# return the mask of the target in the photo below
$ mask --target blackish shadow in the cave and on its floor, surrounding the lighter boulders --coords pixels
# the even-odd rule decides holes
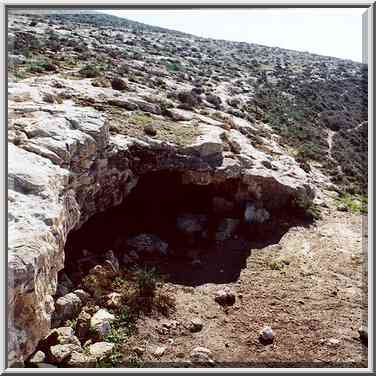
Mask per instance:
[[[65,246],[65,270],[74,270],[82,249],[96,255],[115,250],[121,260],[122,249],[114,249],[121,236],[151,233],[169,244],[167,256],[143,257],[142,267],[156,267],[167,281],[184,286],[206,283],[236,282],[247,266],[251,250],[277,244],[292,226],[308,226],[311,222],[289,210],[271,213],[263,225],[241,224],[236,236],[217,242],[199,240],[189,245],[176,230],[176,218],[184,213],[206,214],[213,229],[223,217],[212,212],[214,195],[231,199],[236,181],[225,185],[182,184],[178,173],[155,172],[144,175],[125,201],[103,213],[94,215],[79,230],[71,231]],[[234,209],[230,217],[242,218],[244,208]],[[196,259],[196,262],[192,262]],[[199,260],[199,262],[197,262]]]

